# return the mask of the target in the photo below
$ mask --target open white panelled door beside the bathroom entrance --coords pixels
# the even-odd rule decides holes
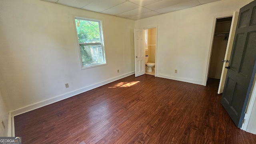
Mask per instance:
[[[145,32],[134,29],[135,77],[145,74]]]

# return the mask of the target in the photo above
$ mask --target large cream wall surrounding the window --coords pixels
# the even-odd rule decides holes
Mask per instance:
[[[103,20],[107,65],[80,69],[74,16]],[[8,111],[133,74],[134,26],[40,0],[0,0],[0,91]]]

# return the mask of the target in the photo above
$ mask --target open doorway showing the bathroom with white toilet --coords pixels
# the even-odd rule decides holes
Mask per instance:
[[[156,28],[145,30],[145,74],[156,74]]]

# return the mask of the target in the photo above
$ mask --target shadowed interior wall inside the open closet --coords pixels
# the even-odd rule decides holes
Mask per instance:
[[[231,26],[231,21],[228,22],[218,22],[216,23],[215,34],[221,32],[229,32]],[[209,70],[209,78],[220,79],[222,66],[226,53],[226,48],[228,41],[224,40],[225,35],[222,36],[214,36],[213,46],[212,46],[212,55],[210,61],[210,70]]]

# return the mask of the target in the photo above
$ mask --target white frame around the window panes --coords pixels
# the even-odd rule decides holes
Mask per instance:
[[[76,30],[76,21],[75,20],[86,20],[86,21],[98,22],[100,42],[79,43],[78,34],[77,34],[77,30]],[[106,49],[105,49],[105,45],[104,45],[103,20],[97,19],[97,18],[85,18],[85,17],[80,17],[80,16],[73,16],[73,22],[74,22],[74,28],[75,28],[76,41],[77,41],[77,47],[78,47],[78,53],[79,53],[78,55],[79,55],[79,59],[80,59],[79,62],[80,62],[81,70],[107,65]],[[83,65],[80,46],[84,46],[84,45],[85,46],[86,45],[87,46],[89,46],[89,45],[93,46],[93,45],[95,45],[97,47],[97,45],[99,45],[99,44],[101,45],[101,55],[102,55],[102,59],[104,60],[104,62],[100,62],[100,63],[96,63],[96,64]]]

